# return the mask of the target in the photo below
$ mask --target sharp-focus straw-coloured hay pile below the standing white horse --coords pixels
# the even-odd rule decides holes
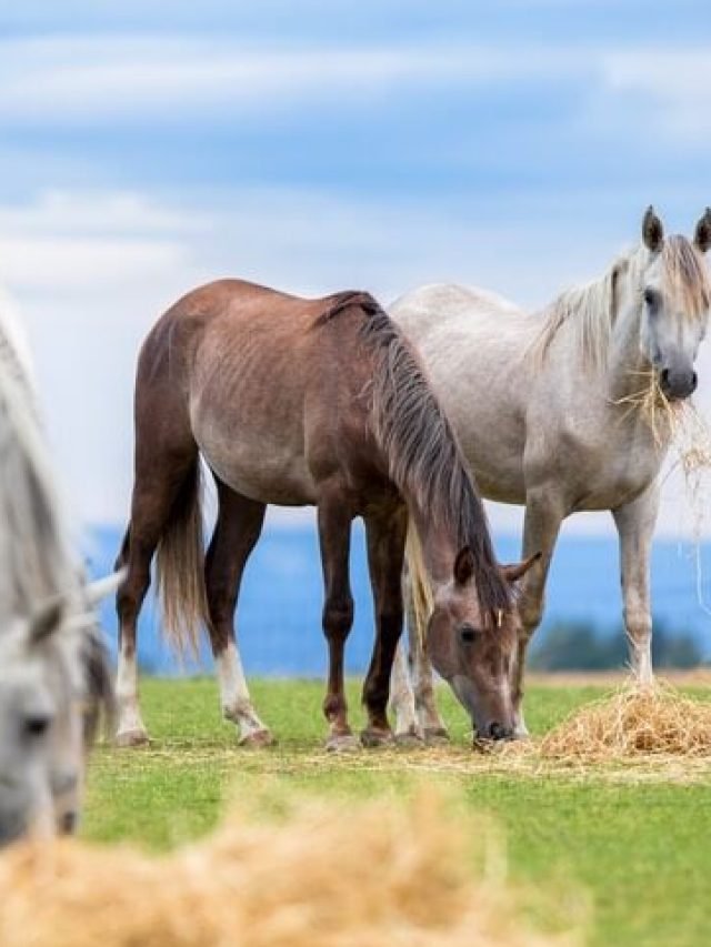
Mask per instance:
[[[711,703],[669,684],[627,684],[575,711],[543,737],[540,752],[558,759],[711,756]]]

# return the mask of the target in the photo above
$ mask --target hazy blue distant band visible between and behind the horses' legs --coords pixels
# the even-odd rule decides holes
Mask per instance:
[[[347,669],[361,674],[372,646],[372,603],[365,566],[363,531],[356,524],[351,553],[351,581],[356,621],[348,639]],[[111,570],[121,532],[112,527],[91,531],[89,556],[92,575]],[[502,562],[519,557],[519,540],[495,537]],[[659,541],[652,556],[654,616],[674,632],[691,632],[702,653],[711,656],[711,617],[699,604],[695,551]],[[711,544],[701,556],[703,597],[711,601]],[[557,621],[588,621],[601,631],[620,624],[619,557],[613,538],[563,536],[557,547],[548,588],[542,638]],[[249,675],[321,676],[326,645],[321,633],[321,564],[316,530],[311,526],[268,524],[242,582],[237,627]],[[116,652],[113,603],[102,606],[107,639]],[[209,647],[199,664],[177,662],[161,641],[157,611],[149,593],[139,626],[139,659],[156,674],[192,673],[212,666]]]

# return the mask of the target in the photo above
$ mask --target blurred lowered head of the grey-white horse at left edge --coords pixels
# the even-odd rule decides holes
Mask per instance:
[[[91,615],[52,598],[0,635],[0,845],[72,832],[84,756],[110,678]]]

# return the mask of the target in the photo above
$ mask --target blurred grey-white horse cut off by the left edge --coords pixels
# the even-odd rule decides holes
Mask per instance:
[[[73,829],[111,701],[92,604],[54,491],[27,349],[0,311],[0,845]]]

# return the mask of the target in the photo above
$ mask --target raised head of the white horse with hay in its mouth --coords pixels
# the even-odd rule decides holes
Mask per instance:
[[[707,330],[711,288],[703,254],[711,245],[711,210],[697,224],[693,241],[664,236],[652,208],[644,214],[642,242],[648,251],[631,288],[642,306],[642,355],[658,374],[671,401],[689,397],[697,387],[694,362]]]

